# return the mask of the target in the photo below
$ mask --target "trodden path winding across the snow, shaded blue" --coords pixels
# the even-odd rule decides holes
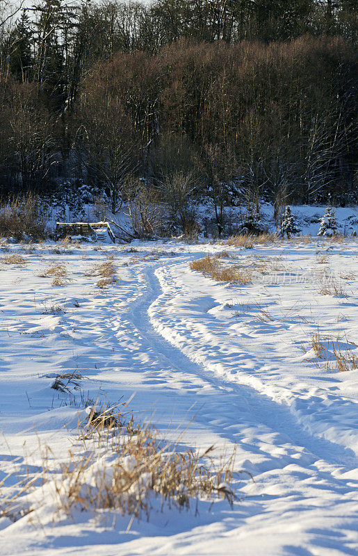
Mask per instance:
[[[174,265],[175,263],[172,263]],[[213,371],[187,357],[178,347],[167,341],[161,332],[157,332],[149,318],[149,308],[158,297],[162,295],[159,281],[155,275],[157,267],[145,268],[145,283],[147,289],[143,295],[140,295],[132,302],[127,318],[131,324],[136,327],[147,348],[153,350],[157,356],[163,359],[165,366],[172,368],[173,373],[187,373],[188,375],[199,377],[202,381],[218,391],[218,397],[225,398],[223,402],[215,404],[214,415],[220,420],[221,436],[226,436],[231,441],[238,440],[235,433],[230,433],[235,423],[245,423],[251,427],[265,427],[266,432],[279,434],[281,440],[279,444],[286,444],[300,447],[307,455],[307,452],[314,456],[313,461],[323,459],[328,464],[344,466],[346,469],[354,469],[357,465],[354,452],[345,448],[343,445],[333,443],[323,439],[320,436],[314,436],[304,430],[300,423],[295,420],[290,409],[282,404],[278,404],[274,400],[268,398],[265,394],[255,390],[250,386],[237,384],[225,380],[215,375]],[[196,393],[197,401],[200,401],[200,391]],[[237,409],[240,408],[240,409]],[[204,408],[205,409],[205,408]],[[212,409],[212,408],[211,408]],[[236,411],[237,409],[237,411]],[[244,409],[245,414],[242,414]],[[219,412],[222,414],[219,414]],[[204,423],[208,422],[208,418],[213,414],[204,414]],[[237,416],[237,417],[236,417]],[[200,416],[195,420],[200,420]],[[229,427],[229,428],[228,428]],[[277,442],[279,439],[275,439]],[[301,452],[302,453],[302,452]],[[298,460],[296,459],[296,463]],[[307,465],[307,463],[306,463]]]

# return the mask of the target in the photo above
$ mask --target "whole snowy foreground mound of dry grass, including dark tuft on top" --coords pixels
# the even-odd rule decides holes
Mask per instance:
[[[74,510],[129,514],[129,530],[134,518],[148,519],[154,505],[188,509],[198,499],[225,498],[230,505],[236,500],[236,477],[243,472],[234,471],[235,451],[214,458],[213,446],[203,452],[181,448],[179,440],[165,440],[153,425],[135,424],[113,408],[86,411],[65,462],[51,466],[47,457],[37,475],[22,480],[20,496],[3,495],[0,515],[15,521],[45,500],[57,507],[58,516],[74,516]],[[31,498],[36,489],[38,496]]]

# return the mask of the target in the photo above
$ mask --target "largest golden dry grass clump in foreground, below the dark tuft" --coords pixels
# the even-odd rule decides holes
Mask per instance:
[[[113,509],[133,519],[141,514],[149,518],[151,498],[160,498],[161,506],[187,509],[197,498],[226,498],[231,504],[236,498],[234,455],[215,465],[209,459],[213,446],[202,454],[179,451],[175,443],[161,441],[154,427],[142,426],[134,432],[124,427],[121,437],[116,431],[109,450],[110,465],[105,459],[98,465],[95,450],[62,466],[57,485],[60,510],[71,514],[74,507],[90,512]]]

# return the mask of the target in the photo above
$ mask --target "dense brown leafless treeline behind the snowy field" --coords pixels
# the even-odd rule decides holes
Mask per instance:
[[[0,26],[3,193],[354,202],[355,3],[46,0]],[[1,22],[1,20],[0,20]],[[302,35],[304,33],[304,35]],[[338,36],[339,35],[339,36]]]

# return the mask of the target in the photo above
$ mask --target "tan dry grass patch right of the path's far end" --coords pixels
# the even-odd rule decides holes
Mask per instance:
[[[223,267],[217,257],[206,255],[203,259],[190,262],[191,270],[202,272],[218,282],[229,282],[245,286],[252,281],[252,270],[241,269],[237,266]]]

